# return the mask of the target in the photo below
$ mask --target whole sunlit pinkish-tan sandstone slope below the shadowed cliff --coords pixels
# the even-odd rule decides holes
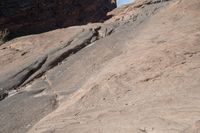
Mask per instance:
[[[200,1],[109,15],[0,46],[0,132],[200,132]]]

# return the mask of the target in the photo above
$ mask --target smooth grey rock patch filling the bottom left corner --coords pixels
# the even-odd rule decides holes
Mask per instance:
[[[21,92],[0,102],[1,132],[25,133],[36,121],[56,109],[55,95],[35,95],[36,92]]]

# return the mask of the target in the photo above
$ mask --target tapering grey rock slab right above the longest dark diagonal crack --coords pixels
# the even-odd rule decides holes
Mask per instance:
[[[41,69],[38,70],[37,72],[35,72],[33,75],[31,75],[23,83],[22,86],[26,85],[27,83],[33,81],[36,78],[41,77],[48,70],[50,70],[50,69],[58,66],[60,63],[62,63],[66,58],[70,57],[73,54],[76,54],[81,49],[90,45],[92,43],[91,40],[93,39],[93,37],[97,37],[97,36],[98,36],[98,31],[94,30],[94,29],[89,29],[88,31],[85,31],[82,34],[78,35],[75,39],[70,41],[68,46],[48,55],[47,60],[46,60],[45,64],[41,67]],[[98,39],[96,38],[96,40],[98,40]],[[96,40],[93,40],[93,42]]]

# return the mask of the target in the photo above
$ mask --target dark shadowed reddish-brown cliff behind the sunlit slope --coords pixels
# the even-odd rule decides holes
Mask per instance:
[[[1,0],[0,39],[103,21],[115,7],[115,0]]]

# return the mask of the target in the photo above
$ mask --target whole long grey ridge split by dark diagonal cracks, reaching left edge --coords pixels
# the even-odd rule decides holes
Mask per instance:
[[[36,62],[30,64],[20,72],[6,78],[3,82],[0,82],[0,88],[4,90],[2,92],[5,93],[9,90],[23,87],[31,81],[40,78],[44,73],[58,66],[66,58],[76,54],[91,43],[103,38],[99,33],[100,29],[101,27],[97,27],[96,29],[87,29],[83,31],[74,39],[69,41],[62,49],[60,48],[55,52],[44,55],[42,58],[37,59]],[[4,93],[2,95],[4,95]]]

